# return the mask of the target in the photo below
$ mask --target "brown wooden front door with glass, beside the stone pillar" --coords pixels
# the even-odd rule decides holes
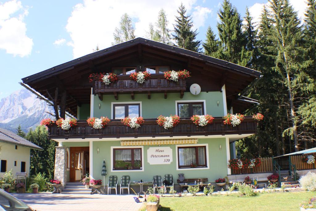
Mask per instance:
[[[78,182],[89,173],[89,147],[70,147],[70,182]]]

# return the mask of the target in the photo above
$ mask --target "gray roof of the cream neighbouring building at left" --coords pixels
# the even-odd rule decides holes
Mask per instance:
[[[39,147],[36,144],[33,144],[32,142],[26,139],[23,139],[21,136],[18,136],[17,134],[2,128],[0,128],[0,142],[25,146],[32,149],[43,150],[42,147]]]

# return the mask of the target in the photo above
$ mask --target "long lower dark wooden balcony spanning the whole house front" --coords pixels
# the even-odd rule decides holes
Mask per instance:
[[[190,119],[180,119],[180,123],[171,129],[157,125],[156,119],[145,119],[144,124],[135,129],[123,125],[119,120],[111,120],[103,129],[94,129],[83,120],[78,121],[78,125],[69,130],[61,129],[55,123],[48,126],[51,139],[190,137],[252,133],[257,133],[257,121],[251,116],[246,116],[236,127],[224,125],[221,117],[215,118],[212,124],[205,127],[196,126]]]

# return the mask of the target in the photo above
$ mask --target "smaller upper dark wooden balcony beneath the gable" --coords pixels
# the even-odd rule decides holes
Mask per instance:
[[[185,90],[185,79],[173,82],[164,78],[163,74],[152,74],[143,84],[131,80],[129,75],[118,75],[118,80],[109,85],[99,80],[94,81],[94,93],[100,100],[103,100],[103,94],[113,94],[116,100],[118,100],[118,94],[131,94],[131,98],[134,99],[134,93],[147,93],[148,99],[150,99],[150,93],[164,93],[164,97],[167,98],[168,92],[179,92],[182,98]]]

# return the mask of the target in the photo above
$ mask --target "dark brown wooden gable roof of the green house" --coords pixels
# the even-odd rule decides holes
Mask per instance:
[[[45,97],[49,96],[47,93],[53,96],[55,87],[66,90],[67,111],[76,115],[77,105],[90,101],[90,73],[106,72],[122,61],[137,59],[141,62],[148,58],[191,71],[195,76],[191,78],[192,83],[206,84],[202,91],[220,90],[225,84],[226,96],[232,102],[261,75],[258,71],[201,53],[136,38],[22,78],[22,81]],[[190,85],[190,80],[187,84]]]

